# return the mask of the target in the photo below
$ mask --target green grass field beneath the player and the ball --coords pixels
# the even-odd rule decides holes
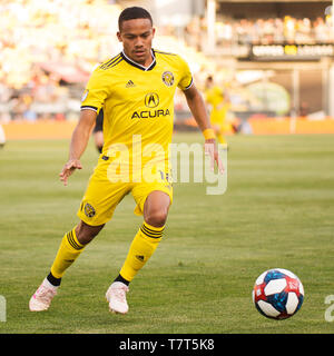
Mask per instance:
[[[177,134],[176,142],[202,141]],[[48,274],[97,161],[90,142],[84,169],[58,179],[68,141],[10,141],[0,150],[0,333],[328,334],[334,295],[334,136],[229,138],[228,188],[176,184],[164,240],[130,285],[130,312],[108,312],[105,293],[119,271],[141,218],[127,196],[114,219],[62,280],[51,308],[28,301]],[[302,309],[286,320],[252,303],[257,276],[273,267],[303,281]],[[333,313],[334,316],[334,313]]]

